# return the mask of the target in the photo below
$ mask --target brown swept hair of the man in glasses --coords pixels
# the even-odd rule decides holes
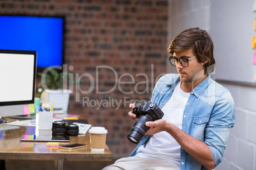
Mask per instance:
[[[207,62],[204,64],[204,72],[211,74],[215,67],[214,46],[211,37],[205,30],[198,27],[183,30],[173,39],[168,50],[173,55],[173,53],[180,53],[191,48],[199,63]]]

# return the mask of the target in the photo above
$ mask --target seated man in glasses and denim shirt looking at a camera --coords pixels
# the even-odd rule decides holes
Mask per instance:
[[[221,162],[234,126],[234,101],[209,75],[213,42],[205,30],[187,29],[168,49],[178,74],[162,76],[152,93],[164,117],[146,122],[151,128],[131,157],[105,169],[213,169]]]

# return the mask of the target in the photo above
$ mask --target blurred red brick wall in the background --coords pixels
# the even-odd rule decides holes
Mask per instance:
[[[84,107],[92,124],[108,129],[113,157],[128,156],[135,147],[126,137],[133,124],[129,101],[150,100],[157,76],[166,72],[167,0],[2,0],[0,9],[66,16],[68,71],[87,74],[80,88],[91,89],[73,88],[78,93],[69,108]]]

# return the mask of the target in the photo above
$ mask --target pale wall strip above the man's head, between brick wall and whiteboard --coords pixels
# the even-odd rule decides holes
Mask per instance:
[[[168,46],[185,29],[199,27],[211,31],[211,0],[169,0],[168,5]],[[167,71],[176,73],[175,67],[167,63]]]

